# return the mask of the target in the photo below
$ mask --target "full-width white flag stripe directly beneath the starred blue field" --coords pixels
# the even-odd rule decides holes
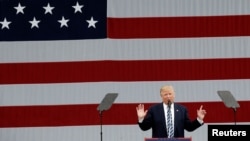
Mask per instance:
[[[249,37],[0,42],[1,63],[244,58]]]

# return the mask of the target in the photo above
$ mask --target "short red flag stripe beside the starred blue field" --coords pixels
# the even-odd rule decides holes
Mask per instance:
[[[108,18],[109,38],[249,36],[250,15]]]

